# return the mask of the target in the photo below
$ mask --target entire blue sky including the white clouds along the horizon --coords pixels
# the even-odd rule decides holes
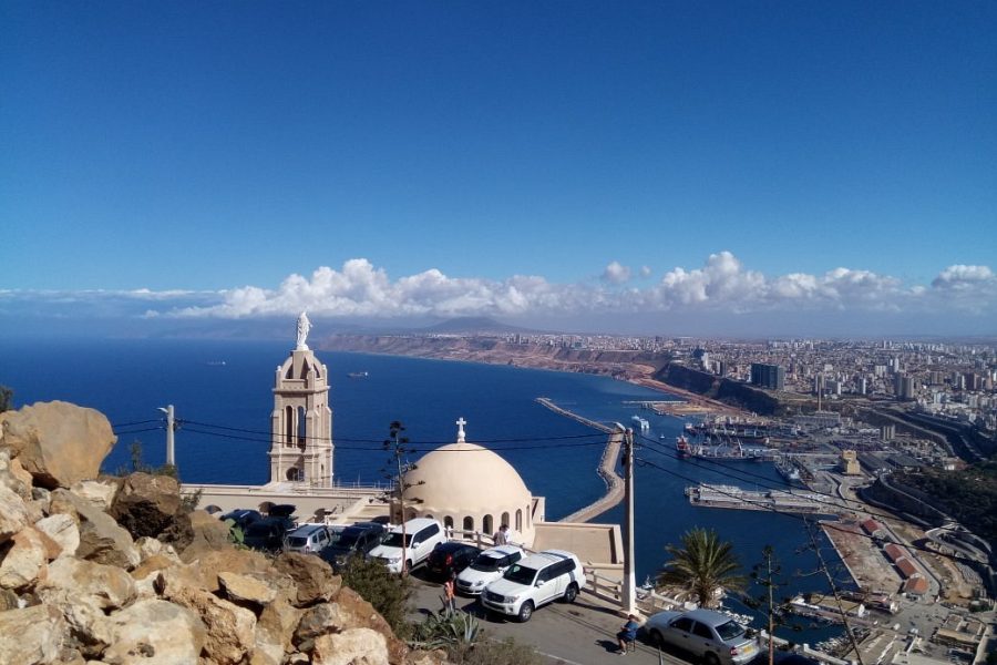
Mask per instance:
[[[0,225],[0,327],[993,334],[997,4],[4,2]]]

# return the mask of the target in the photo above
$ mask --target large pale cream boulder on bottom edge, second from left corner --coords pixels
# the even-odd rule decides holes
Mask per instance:
[[[160,600],[137,601],[109,617],[111,646],[101,659],[109,665],[197,663],[206,631],[197,615]]]

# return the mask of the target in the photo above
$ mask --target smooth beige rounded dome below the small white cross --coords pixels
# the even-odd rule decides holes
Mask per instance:
[[[460,441],[429,452],[405,474],[405,500],[420,514],[482,514],[526,508],[530,490],[512,464],[486,448]]]

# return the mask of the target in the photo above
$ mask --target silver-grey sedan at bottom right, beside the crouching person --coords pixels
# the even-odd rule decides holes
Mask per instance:
[[[706,665],[740,665],[758,655],[758,643],[748,638],[747,628],[713,610],[658,612],[644,630],[651,643],[677,646]]]

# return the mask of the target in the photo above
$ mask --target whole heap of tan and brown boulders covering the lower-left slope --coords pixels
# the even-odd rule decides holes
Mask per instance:
[[[38,413],[13,420],[31,419]],[[24,472],[38,466],[20,456],[50,460],[49,441],[72,456],[68,442],[88,444],[91,424],[47,421],[32,430],[44,433],[33,450],[23,434],[17,447],[0,442],[0,663],[444,663],[410,654],[317,556],[271,560],[233,546],[217,519],[183,511],[173,479]],[[52,491],[33,484],[53,478]],[[171,539],[177,533],[186,538]]]

